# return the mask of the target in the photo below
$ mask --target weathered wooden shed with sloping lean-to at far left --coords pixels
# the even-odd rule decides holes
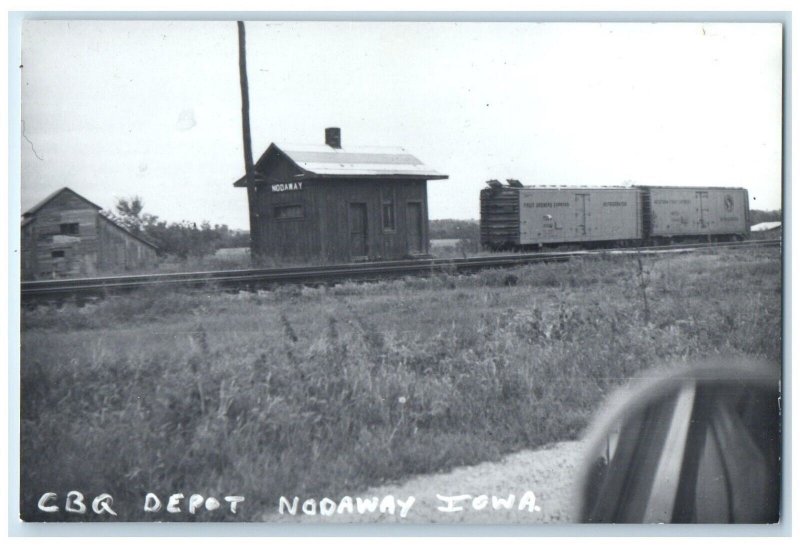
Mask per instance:
[[[64,187],[26,211],[22,278],[95,276],[154,267],[157,247],[105,217],[101,209]]]

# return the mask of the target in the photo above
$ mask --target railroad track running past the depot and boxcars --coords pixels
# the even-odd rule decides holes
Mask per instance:
[[[370,281],[391,277],[430,275],[437,272],[468,273],[485,268],[502,268],[538,262],[568,261],[573,257],[593,255],[626,255],[682,253],[713,248],[780,247],[781,240],[748,240],[745,242],[683,244],[639,248],[514,253],[464,259],[417,259],[370,263],[349,263],[328,266],[219,270],[175,274],[107,276],[65,280],[22,282],[24,304],[41,301],[85,299],[146,287],[213,287],[220,290],[273,287],[281,284],[322,284],[345,280]]]

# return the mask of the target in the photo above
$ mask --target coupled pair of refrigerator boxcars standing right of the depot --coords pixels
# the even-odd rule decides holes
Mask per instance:
[[[486,249],[740,239],[747,190],[718,187],[553,187],[497,181],[481,191]]]

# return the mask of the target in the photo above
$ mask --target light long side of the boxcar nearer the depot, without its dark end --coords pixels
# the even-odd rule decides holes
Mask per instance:
[[[638,240],[640,196],[638,188],[521,188],[519,244]]]

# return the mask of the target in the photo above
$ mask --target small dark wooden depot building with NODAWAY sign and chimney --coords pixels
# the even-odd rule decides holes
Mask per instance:
[[[403,148],[273,143],[247,188],[252,256],[284,263],[401,259],[428,253],[427,181],[446,179]]]

